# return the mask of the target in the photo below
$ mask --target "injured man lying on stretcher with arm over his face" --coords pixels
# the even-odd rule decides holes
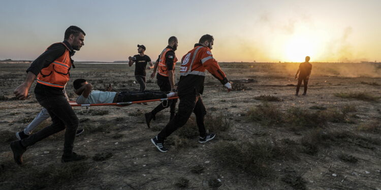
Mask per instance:
[[[79,95],[77,98],[78,104],[96,104],[96,103],[117,103],[131,102],[141,100],[152,100],[174,97],[175,92],[110,92],[111,87],[107,91],[92,90],[92,86],[85,79],[77,79],[73,82],[74,92]]]

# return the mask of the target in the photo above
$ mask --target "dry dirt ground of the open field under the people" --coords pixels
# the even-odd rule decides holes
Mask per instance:
[[[227,120],[229,129],[214,130],[216,138],[198,143],[197,136],[183,137],[174,133],[169,151],[160,153],[150,142],[169,120],[169,110],[157,115],[148,129],[144,113],[158,102],[127,107],[91,107],[87,115],[81,108],[74,110],[85,132],[75,140],[74,151],[88,159],[77,163],[60,163],[63,132],[29,147],[24,165],[13,162],[9,143],[21,131],[41,106],[31,87],[30,98],[14,100],[13,90],[25,78],[29,64],[1,64],[0,72],[0,189],[381,189],[381,136],[379,129],[381,106],[378,101],[342,98],[336,93],[366,93],[375,97],[381,92],[380,66],[376,64],[312,63],[313,69],[306,96],[295,96],[294,79],[297,63],[221,63],[221,68],[233,81],[235,91],[227,93],[210,74],[202,96],[207,115]],[[178,70],[177,70],[178,71]],[[150,73],[147,70],[147,73]],[[178,75],[178,74],[177,74]],[[76,64],[71,71],[67,92],[75,100],[72,82],[85,78],[94,89],[103,90],[112,84],[114,90],[139,89],[134,67],[123,64]],[[147,89],[156,90],[156,80],[147,81]],[[303,87],[301,87],[301,92]],[[301,94],[301,93],[300,93]],[[314,107],[342,109],[351,106],[351,122],[328,122],[319,128],[322,134],[350,132],[349,141],[326,141],[315,154],[298,149],[298,159],[275,159],[267,162],[272,175],[258,177],[257,171],[246,172],[221,163],[216,149],[224,143],[292,142],[302,146],[316,128],[295,130],[283,125],[263,125],[247,117],[248,111],[262,100],[255,97],[271,95],[280,101],[270,102],[281,112],[291,107],[314,111]],[[372,130],[361,126],[376,122]],[[50,119],[39,128],[48,126]],[[193,125],[193,126],[192,126]],[[194,118],[184,128],[194,127]],[[209,122],[208,125],[213,125]],[[207,129],[218,126],[206,126]],[[36,130],[37,131],[37,130]],[[337,139],[339,139],[339,136]],[[289,143],[290,144],[290,143]],[[228,148],[229,149],[229,148]],[[229,150],[228,150],[229,153]],[[232,162],[233,163],[233,162]],[[237,163],[236,163],[237,164]],[[239,164],[239,163],[238,163]]]

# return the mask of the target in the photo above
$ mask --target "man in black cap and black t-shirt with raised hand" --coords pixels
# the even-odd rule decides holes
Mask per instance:
[[[147,66],[147,63],[149,63],[147,69],[151,69],[153,67],[153,64],[151,62],[151,59],[144,55],[145,46],[144,45],[138,45],[138,53],[137,55],[134,55],[134,57],[129,57],[129,66],[132,66],[135,63],[135,79],[140,85],[140,92],[145,91],[145,68]]]

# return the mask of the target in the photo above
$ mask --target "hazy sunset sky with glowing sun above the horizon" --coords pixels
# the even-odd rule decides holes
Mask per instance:
[[[0,6],[0,60],[37,58],[70,25],[77,61],[126,60],[137,44],[156,59],[177,36],[179,59],[203,34],[220,62],[381,61],[380,0],[8,1]]]

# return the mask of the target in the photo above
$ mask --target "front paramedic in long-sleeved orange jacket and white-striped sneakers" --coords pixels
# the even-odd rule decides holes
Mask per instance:
[[[163,145],[164,140],[176,129],[185,125],[192,112],[196,115],[196,122],[199,127],[199,142],[204,143],[215,137],[213,133],[206,133],[204,125],[206,109],[200,96],[204,91],[206,70],[220,81],[228,89],[228,92],[232,89],[232,85],[210,52],[213,41],[213,36],[209,34],[203,35],[199,43],[195,44],[195,48],[181,59],[178,84],[178,96],[180,99],[178,112],[167,126],[156,137],[151,139],[156,148],[163,153],[168,150]]]

